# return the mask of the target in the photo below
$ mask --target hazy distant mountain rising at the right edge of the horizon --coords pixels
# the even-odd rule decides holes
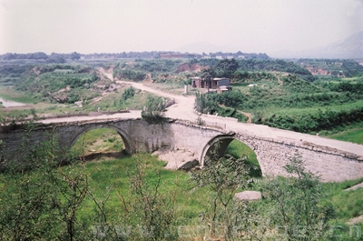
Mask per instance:
[[[281,51],[272,57],[363,59],[363,31],[330,45],[299,52]]]

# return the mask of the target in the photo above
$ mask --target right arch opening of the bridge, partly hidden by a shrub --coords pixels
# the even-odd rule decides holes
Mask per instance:
[[[201,166],[205,166],[205,158],[217,160],[223,156],[231,155],[234,158],[244,158],[246,166],[250,169],[250,176],[260,177],[263,170],[258,156],[250,146],[233,138],[231,135],[216,136],[204,147],[201,156]]]

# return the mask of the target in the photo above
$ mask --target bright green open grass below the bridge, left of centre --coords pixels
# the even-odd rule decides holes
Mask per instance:
[[[183,171],[171,171],[164,169],[165,163],[157,159],[156,156],[142,154],[137,157],[126,156],[122,159],[113,159],[104,161],[102,159],[86,163],[85,166],[74,168],[73,172],[88,174],[89,188],[93,191],[96,198],[102,198],[105,190],[112,187],[111,196],[107,202],[107,216],[109,222],[116,224],[120,222],[119,218],[124,212],[121,196],[127,200],[130,195],[130,180],[128,174],[135,170],[135,162],[143,162],[145,164],[145,179],[148,185],[157,183],[157,173],[160,173],[162,185],[160,190],[162,195],[177,193],[178,216],[184,224],[198,223],[198,215],[205,211],[208,204],[208,192],[198,189],[191,193],[193,184],[189,182],[189,175]],[[68,166],[63,167],[64,171],[69,169]],[[93,214],[93,200],[87,198],[83,205],[80,215],[83,218],[89,218]]]

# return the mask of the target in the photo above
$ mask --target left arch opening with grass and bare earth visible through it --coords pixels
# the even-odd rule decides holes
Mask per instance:
[[[93,127],[74,138],[74,156],[90,161],[99,158],[121,158],[130,153],[127,139],[115,128]]]

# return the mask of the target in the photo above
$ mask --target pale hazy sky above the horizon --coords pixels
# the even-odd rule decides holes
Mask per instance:
[[[269,55],[360,31],[363,0],[0,0],[0,54],[192,52],[199,43]]]

